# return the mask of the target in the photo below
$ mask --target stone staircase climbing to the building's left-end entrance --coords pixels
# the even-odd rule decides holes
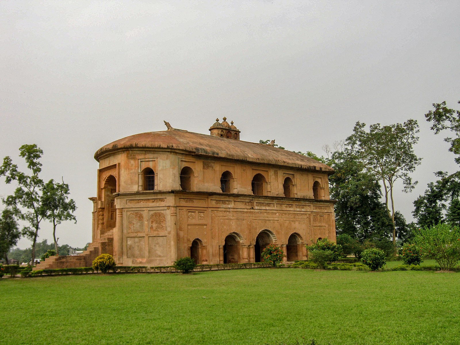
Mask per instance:
[[[89,244],[88,249],[78,255],[50,256],[41,261],[32,270],[46,270],[57,268],[91,267],[92,262],[101,254],[113,255],[113,230],[108,231],[103,237]]]

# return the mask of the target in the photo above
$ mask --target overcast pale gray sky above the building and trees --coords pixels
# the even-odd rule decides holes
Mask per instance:
[[[322,155],[356,121],[413,118],[419,184],[396,199],[411,221],[433,172],[458,168],[424,114],[459,108],[459,14],[459,1],[3,0],[0,158],[44,150],[42,178],[63,176],[78,207],[57,229],[75,247],[91,241],[94,152],[163,120],[209,133],[226,116],[242,140]]]

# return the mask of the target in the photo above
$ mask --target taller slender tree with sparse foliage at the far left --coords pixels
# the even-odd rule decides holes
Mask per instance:
[[[32,241],[31,263],[35,261],[35,243],[37,242],[40,222],[46,217],[47,209],[42,202],[43,180],[39,177],[41,172],[40,158],[43,151],[35,144],[25,144],[19,148],[20,157],[23,157],[30,170],[29,175],[17,170],[11,158],[6,156],[0,167],[0,176],[5,176],[7,184],[15,181],[17,188],[12,195],[3,199],[11,207],[14,214],[25,220],[30,226],[24,226],[22,233]],[[19,207],[22,207],[19,208]]]

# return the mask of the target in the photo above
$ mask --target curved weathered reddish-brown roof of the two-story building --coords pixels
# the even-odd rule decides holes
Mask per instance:
[[[271,145],[214,137],[209,134],[188,132],[180,129],[134,134],[116,140],[96,151],[94,158],[99,161],[101,155],[111,151],[140,148],[177,149],[197,155],[321,170],[329,174],[334,172],[331,167],[313,158]]]

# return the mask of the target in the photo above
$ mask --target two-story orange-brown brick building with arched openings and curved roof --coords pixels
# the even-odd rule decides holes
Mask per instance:
[[[211,135],[165,123],[166,131],[96,152],[92,244],[79,264],[62,259],[48,267],[87,266],[100,253],[112,254],[117,265],[171,265],[184,256],[199,264],[259,262],[269,243],[293,261],[306,259],[311,239],[335,241],[330,167],[242,141],[225,118]]]

